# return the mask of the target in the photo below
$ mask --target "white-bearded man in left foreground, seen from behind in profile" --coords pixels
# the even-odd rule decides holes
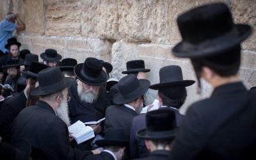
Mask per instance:
[[[38,73],[38,83],[31,95],[38,95],[40,99],[15,118],[12,140],[27,139],[33,159],[84,159],[92,154],[70,146],[67,87],[74,83],[74,79],[63,77],[58,67],[49,67]]]

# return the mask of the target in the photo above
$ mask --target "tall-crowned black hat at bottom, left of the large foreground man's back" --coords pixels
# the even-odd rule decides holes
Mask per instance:
[[[158,109],[146,114],[146,129],[136,133],[145,140],[173,140],[176,135],[175,112],[171,109]]]

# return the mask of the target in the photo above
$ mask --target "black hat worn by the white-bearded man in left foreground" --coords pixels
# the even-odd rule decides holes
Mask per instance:
[[[49,67],[38,73],[37,80],[39,86],[31,90],[31,95],[48,95],[67,88],[75,79],[72,77],[63,77],[58,67]]]

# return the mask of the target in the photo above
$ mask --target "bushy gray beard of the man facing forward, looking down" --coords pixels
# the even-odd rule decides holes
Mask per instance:
[[[98,99],[99,88],[98,90],[93,90],[92,92],[84,92],[82,86],[77,85],[77,93],[82,102],[92,103],[94,100]]]

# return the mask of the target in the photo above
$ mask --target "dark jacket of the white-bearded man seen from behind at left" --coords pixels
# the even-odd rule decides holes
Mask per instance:
[[[83,159],[92,154],[70,147],[67,125],[41,100],[20,112],[13,121],[11,136],[12,140],[27,139],[31,147],[41,151],[47,159]]]

